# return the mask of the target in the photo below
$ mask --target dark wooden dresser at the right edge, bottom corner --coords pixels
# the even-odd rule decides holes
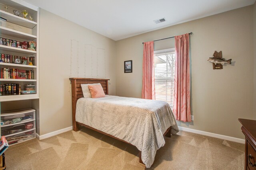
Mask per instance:
[[[256,170],[256,120],[238,119],[245,135],[245,170]]]

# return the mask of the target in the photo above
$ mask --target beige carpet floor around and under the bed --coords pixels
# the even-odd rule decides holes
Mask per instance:
[[[244,145],[180,131],[156,152],[156,170],[242,170]],[[7,170],[142,170],[136,147],[82,127],[12,145]]]

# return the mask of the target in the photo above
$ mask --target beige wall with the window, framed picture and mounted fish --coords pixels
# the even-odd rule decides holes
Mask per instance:
[[[238,118],[252,119],[254,90],[253,6],[189,21],[117,41],[116,95],[141,98],[142,42],[193,32],[191,42],[191,104],[194,121],[179,126],[244,138]],[[174,47],[174,39],[154,49]],[[214,51],[232,65],[213,70],[207,61]],[[124,73],[124,61],[133,72]]]

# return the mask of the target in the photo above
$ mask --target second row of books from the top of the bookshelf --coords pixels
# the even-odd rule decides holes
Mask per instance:
[[[1,54],[3,63],[35,65],[35,57],[21,57],[16,55]]]

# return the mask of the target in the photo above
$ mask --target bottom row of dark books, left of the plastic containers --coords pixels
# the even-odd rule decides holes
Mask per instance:
[[[20,95],[21,86],[16,83],[0,85],[0,96]]]

